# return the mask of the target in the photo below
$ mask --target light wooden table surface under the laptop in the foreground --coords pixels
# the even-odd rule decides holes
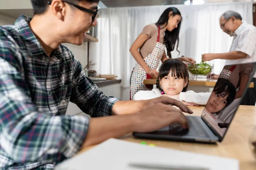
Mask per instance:
[[[201,115],[204,109],[202,106],[192,106],[190,108],[194,111],[193,114],[198,116]],[[224,140],[218,144],[134,139],[131,134],[122,136],[119,139],[137,143],[143,141],[147,143],[154,143],[159,147],[234,158],[239,160],[240,170],[256,170],[256,153],[253,152],[253,148],[249,143],[249,136],[254,127],[256,127],[256,106],[240,106],[229,130],[227,131],[227,135],[224,137]],[[254,130],[256,133],[256,129]],[[82,153],[94,146],[84,148],[79,153]]]

